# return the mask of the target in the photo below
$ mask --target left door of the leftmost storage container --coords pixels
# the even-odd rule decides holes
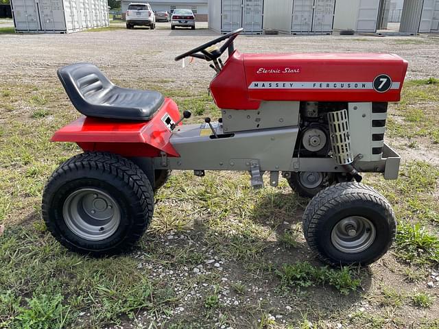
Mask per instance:
[[[40,29],[37,8],[34,0],[12,1],[15,28],[19,31],[36,31]]]

